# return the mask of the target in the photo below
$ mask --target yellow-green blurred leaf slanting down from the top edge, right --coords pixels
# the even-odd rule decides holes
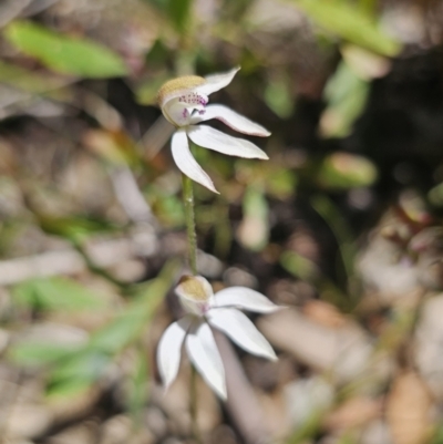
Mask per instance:
[[[317,24],[379,54],[396,55],[401,45],[371,16],[347,0],[291,0]]]

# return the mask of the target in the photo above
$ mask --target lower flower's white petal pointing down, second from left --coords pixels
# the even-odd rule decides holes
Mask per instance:
[[[226,400],[225,369],[213,332],[206,322],[186,338],[186,350],[206,383]]]

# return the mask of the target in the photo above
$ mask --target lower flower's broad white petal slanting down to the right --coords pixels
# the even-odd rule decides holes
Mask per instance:
[[[222,330],[249,353],[268,358],[271,361],[277,360],[269,342],[241,311],[234,308],[216,308],[209,310],[207,317],[212,326]]]

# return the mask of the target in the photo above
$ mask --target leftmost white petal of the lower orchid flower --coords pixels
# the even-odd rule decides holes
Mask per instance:
[[[182,343],[192,324],[190,317],[172,323],[163,333],[157,348],[157,363],[162,381],[167,389],[178,373]]]

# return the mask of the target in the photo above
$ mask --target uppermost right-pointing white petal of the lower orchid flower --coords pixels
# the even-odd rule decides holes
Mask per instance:
[[[212,307],[238,307],[257,313],[272,313],[282,308],[247,287],[225,288],[212,297],[209,303]]]

